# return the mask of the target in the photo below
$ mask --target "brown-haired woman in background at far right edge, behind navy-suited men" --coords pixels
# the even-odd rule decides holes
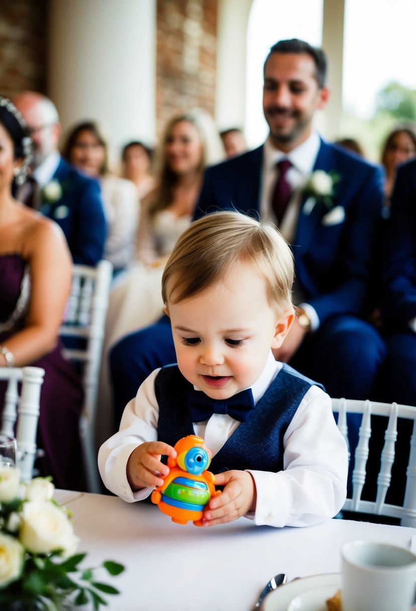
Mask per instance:
[[[386,172],[384,180],[384,206],[382,215],[390,216],[390,199],[396,180],[396,169],[401,163],[409,161],[416,155],[416,134],[411,128],[396,128],[391,131],[384,142],[381,152],[381,163]]]

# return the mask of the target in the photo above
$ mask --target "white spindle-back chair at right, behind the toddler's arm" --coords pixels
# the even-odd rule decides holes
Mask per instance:
[[[362,414],[359,441],[354,452],[353,493],[347,498],[343,510],[400,518],[402,526],[416,527],[416,407],[397,403],[376,403],[351,399],[332,399],[332,411],[338,412],[338,428],[348,445],[347,414]],[[381,452],[380,469],[376,482],[376,499],[362,500],[362,491],[367,481],[367,462],[370,455],[372,417],[387,417],[384,445]],[[406,419],[412,427],[409,463],[406,469],[406,492],[403,506],[386,503],[386,494],[392,482],[392,466],[395,460],[398,439],[398,419]],[[378,431],[379,432],[379,431]]]

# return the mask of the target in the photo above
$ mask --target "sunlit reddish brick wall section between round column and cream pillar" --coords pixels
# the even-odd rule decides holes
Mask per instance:
[[[218,0],[157,0],[157,133],[174,112],[215,110]]]

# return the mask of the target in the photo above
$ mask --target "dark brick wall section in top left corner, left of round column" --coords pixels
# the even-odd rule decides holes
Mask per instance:
[[[0,1],[0,93],[46,92],[49,0]]]

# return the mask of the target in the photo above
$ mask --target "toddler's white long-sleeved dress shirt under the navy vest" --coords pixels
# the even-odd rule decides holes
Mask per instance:
[[[262,375],[251,387],[255,403],[264,395],[282,364],[267,360]],[[126,466],[133,450],[145,441],[157,440],[159,407],[153,371],[138,389],[135,399],[127,403],[115,433],[100,448],[98,466],[106,487],[127,502],[142,500],[152,488],[132,492]],[[240,422],[228,414],[213,414],[206,422],[194,423],[195,434],[215,456]],[[332,518],[346,497],[348,453],[345,441],[335,425],[331,399],[319,387],[312,386],[299,407],[283,438],[283,470],[278,473],[254,471],[256,511],[248,514],[257,525],[282,527],[306,526]]]

